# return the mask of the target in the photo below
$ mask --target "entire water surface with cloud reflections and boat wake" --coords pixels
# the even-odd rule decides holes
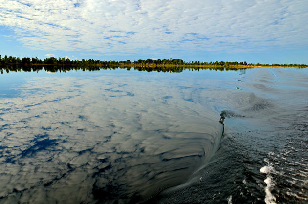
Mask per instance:
[[[308,203],[308,69],[0,75],[0,203]]]

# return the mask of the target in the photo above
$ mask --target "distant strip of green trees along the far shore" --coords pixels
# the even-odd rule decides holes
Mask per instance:
[[[22,64],[22,65],[100,65],[100,66],[112,66],[112,65],[126,65],[126,66],[143,66],[143,65],[154,65],[154,66],[208,66],[208,67],[233,67],[233,66],[239,66],[239,67],[258,67],[258,66],[282,66],[282,67],[307,67],[306,64],[253,64],[249,63],[247,64],[246,61],[244,62],[230,62],[230,61],[215,61],[215,62],[200,62],[200,61],[183,61],[182,59],[147,59],[147,60],[126,60],[126,61],[100,61],[100,60],[94,60],[94,59],[82,59],[82,60],[70,60],[69,58],[45,58],[44,60],[41,60],[37,57],[35,58],[29,58],[24,57],[20,59],[19,57],[7,57],[6,55],[2,58],[0,55],[0,64]]]

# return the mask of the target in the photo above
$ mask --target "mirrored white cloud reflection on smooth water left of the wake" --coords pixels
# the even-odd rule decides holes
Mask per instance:
[[[222,133],[207,105],[213,90],[198,83],[125,74],[27,80],[0,102],[0,198],[128,202],[185,182]]]

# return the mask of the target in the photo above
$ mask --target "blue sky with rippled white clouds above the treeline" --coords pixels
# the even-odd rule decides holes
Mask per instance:
[[[0,0],[0,54],[308,64],[308,1]]]

